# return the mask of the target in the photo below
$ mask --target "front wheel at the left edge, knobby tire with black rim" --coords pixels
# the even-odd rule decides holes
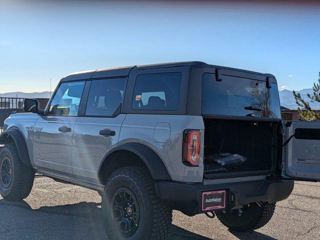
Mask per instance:
[[[25,199],[31,192],[35,170],[25,165],[14,143],[0,151],[0,194],[9,201]]]

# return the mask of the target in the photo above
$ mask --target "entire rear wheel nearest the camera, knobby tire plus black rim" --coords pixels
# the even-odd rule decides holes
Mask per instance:
[[[172,210],[158,197],[149,170],[127,166],[109,177],[102,201],[110,239],[166,239]]]

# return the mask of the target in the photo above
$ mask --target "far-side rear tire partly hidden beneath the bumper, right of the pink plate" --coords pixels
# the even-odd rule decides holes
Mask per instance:
[[[237,210],[217,211],[216,216],[221,223],[230,230],[252,231],[264,226],[271,219],[275,209],[274,203],[251,203],[248,208],[243,209],[242,215],[238,215]]]

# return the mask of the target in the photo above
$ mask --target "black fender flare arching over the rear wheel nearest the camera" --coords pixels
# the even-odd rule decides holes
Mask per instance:
[[[140,157],[143,162],[147,165],[149,168],[149,171],[153,177],[153,179],[156,180],[171,180],[171,177],[168,173],[168,170],[166,166],[164,165],[161,158],[158,156],[158,154],[152,150],[150,147],[136,142],[129,142],[124,143],[122,145],[116,146],[112,148],[108,153],[105,155],[104,160],[101,161],[98,175],[100,175],[100,170],[102,167],[102,164],[108,160],[108,156],[110,156],[113,152],[119,151],[119,150],[127,150],[131,151],[132,153],[136,154],[138,157]],[[100,176],[99,176],[99,180]]]

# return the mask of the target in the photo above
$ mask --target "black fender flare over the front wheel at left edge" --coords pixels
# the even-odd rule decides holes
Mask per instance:
[[[21,161],[25,165],[31,166],[29,151],[23,134],[17,129],[10,129],[8,131],[4,131],[0,135],[0,143],[5,144],[7,142],[8,137],[11,137],[14,140]]]

